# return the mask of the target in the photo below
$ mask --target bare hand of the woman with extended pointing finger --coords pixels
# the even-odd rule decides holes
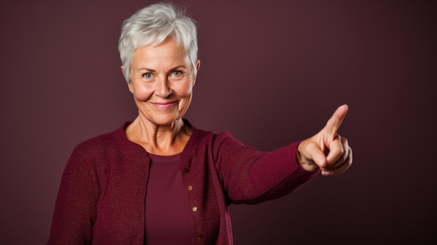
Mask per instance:
[[[304,170],[320,168],[322,175],[338,175],[352,164],[352,149],[348,140],[337,134],[346,117],[348,105],[341,105],[326,125],[313,137],[297,147],[297,162]]]

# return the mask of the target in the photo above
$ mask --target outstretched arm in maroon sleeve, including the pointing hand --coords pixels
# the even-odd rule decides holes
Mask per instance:
[[[280,198],[316,176],[336,175],[352,164],[352,149],[336,132],[348,111],[339,107],[313,137],[272,152],[248,147],[229,134],[218,135],[216,163],[225,191],[235,203]]]

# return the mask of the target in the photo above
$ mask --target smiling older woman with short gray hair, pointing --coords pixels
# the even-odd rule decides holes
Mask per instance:
[[[336,133],[347,105],[271,152],[183,119],[200,67],[196,28],[168,3],[125,20],[119,52],[138,117],[75,147],[48,244],[232,244],[229,205],[280,198],[352,163]]]

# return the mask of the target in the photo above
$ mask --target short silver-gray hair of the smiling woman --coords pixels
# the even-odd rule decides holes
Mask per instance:
[[[124,67],[124,77],[129,82],[133,52],[146,45],[159,45],[172,36],[185,48],[188,72],[197,73],[198,38],[195,21],[185,10],[171,3],[155,3],[135,12],[124,20],[119,39],[119,52]]]

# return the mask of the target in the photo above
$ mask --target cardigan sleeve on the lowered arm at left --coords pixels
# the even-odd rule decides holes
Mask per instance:
[[[78,145],[64,169],[47,244],[91,244],[96,178],[87,149]]]

